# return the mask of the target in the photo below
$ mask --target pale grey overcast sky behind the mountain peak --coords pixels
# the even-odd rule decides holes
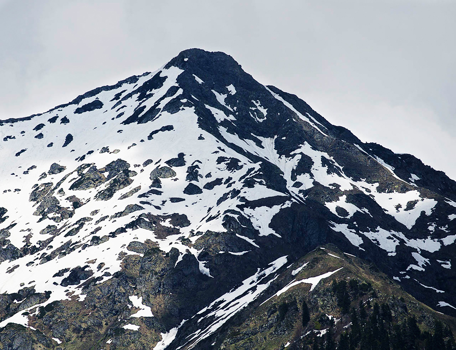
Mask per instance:
[[[362,141],[456,179],[456,1],[0,0],[0,119],[154,71],[233,56]]]

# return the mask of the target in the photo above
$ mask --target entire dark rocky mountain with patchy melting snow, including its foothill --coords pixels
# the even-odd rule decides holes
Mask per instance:
[[[452,346],[456,182],[223,52],[0,130],[0,348]]]

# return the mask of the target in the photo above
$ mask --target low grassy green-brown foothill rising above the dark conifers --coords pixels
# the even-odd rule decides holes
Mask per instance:
[[[298,275],[292,276],[291,272],[305,262],[308,262],[306,267]],[[267,300],[273,294],[272,291],[281,289],[294,279],[318,276],[340,267],[343,267],[342,270],[321,280],[312,291],[309,291],[310,284],[301,283],[278,297]],[[456,319],[453,317],[418,302],[401,289],[398,283],[380,273],[375,266],[328,245],[325,249],[312,251],[283,272],[270,287],[270,295],[264,295],[226,325],[223,333],[216,339],[214,348],[280,349],[285,348],[288,343],[287,348],[302,348],[312,336],[324,333],[325,329],[329,328],[331,320],[327,315],[336,320],[333,330],[334,337],[338,339],[341,332],[350,328],[351,317],[350,312],[343,314],[341,307],[337,305],[332,282],[346,280],[348,283],[353,279],[358,280],[359,284],[368,283],[371,288],[363,295],[354,296],[350,292],[352,308],[358,308],[361,301],[369,314],[374,303],[385,303],[391,308],[393,320],[396,322],[400,323],[414,315],[421,331],[432,330],[437,319],[448,325],[453,333],[456,330]],[[262,304],[265,300],[267,301]],[[306,325],[303,325],[302,321],[303,302],[307,304],[310,314],[310,321]],[[210,341],[213,342],[214,339]]]

